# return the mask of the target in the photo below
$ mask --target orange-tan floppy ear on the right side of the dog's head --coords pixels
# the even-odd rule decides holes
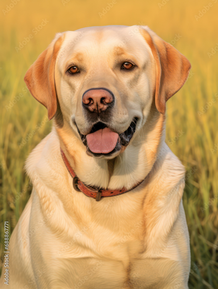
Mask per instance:
[[[185,83],[191,64],[188,59],[147,27],[140,33],[151,48],[156,64],[155,105],[165,114],[166,101]]]

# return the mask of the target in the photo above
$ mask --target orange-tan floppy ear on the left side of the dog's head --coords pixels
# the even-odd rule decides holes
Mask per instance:
[[[57,40],[54,38],[48,48],[30,66],[24,77],[32,96],[47,108],[49,120],[53,118],[57,110],[54,67],[63,38],[64,35]]]

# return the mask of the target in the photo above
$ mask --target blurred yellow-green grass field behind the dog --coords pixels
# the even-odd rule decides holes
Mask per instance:
[[[211,0],[210,7],[209,0],[117,0],[109,11],[103,9],[111,0],[1,1],[2,251],[3,222],[9,221],[11,234],[31,192],[31,185],[23,171],[24,161],[52,126],[52,122],[46,121],[46,109],[25,87],[23,77],[28,67],[51,42],[56,32],[99,25],[148,25],[182,52],[192,64],[188,81],[167,103],[166,143],[187,170],[183,201],[191,246],[189,287],[218,288],[216,1]],[[103,14],[105,11],[107,13]],[[48,22],[40,26],[43,20]],[[23,42],[29,34],[33,38],[16,50],[19,42]],[[36,134],[31,137],[32,130]],[[29,140],[19,146],[27,136]]]

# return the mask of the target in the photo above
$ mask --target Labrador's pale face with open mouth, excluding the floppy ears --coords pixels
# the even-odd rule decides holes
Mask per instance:
[[[78,129],[89,155],[120,153],[149,113],[155,63],[137,34],[132,27],[113,26],[65,34],[56,90],[66,121]]]

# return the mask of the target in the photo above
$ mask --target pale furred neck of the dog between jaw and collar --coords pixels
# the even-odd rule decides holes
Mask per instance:
[[[165,117],[155,110],[149,114],[140,134],[134,136],[130,145],[117,157],[106,160],[87,155],[79,135],[66,121],[60,127],[54,120],[54,127],[61,148],[78,178],[86,185],[111,190],[123,187],[130,190],[145,179],[165,138]]]

